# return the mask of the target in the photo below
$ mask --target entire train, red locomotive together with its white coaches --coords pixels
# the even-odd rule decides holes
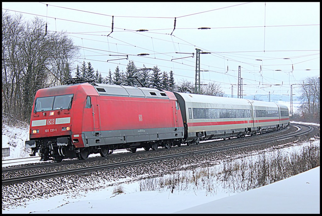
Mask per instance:
[[[289,126],[288,108],[272,102],[73,80],[35,95],[25,144],[43,161],[199,144]]]

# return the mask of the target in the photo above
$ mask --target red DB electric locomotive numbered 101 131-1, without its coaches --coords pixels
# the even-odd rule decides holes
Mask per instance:
[[[183,121],[174,93],[79,83],[39,89],[26,147],[41,160],[106,157],[115,149],[180,145]]]

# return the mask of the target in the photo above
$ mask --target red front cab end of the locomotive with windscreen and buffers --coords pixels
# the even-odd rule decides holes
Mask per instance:
[[[39,89],[35,95],[30,119],[30,156],[41,161],[77,157],[76,147],[84,147],[81,125],[88,94],[98,95],[88,83]]]

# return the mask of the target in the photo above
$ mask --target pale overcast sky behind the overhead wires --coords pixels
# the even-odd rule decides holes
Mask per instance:
[[[131,60],[137,68],[157,65],[161,71],[173,70],[176,81],[194,83],[195,48],[211,52],[200,55],[200,70],[209,70],[201,72],[201,80],[219,82],[228,96],[232,85],[237,95],[238,66],[243,94],[270,92],[283,100],[290,98],[290,85],[320,73],[319,2],[3,2],[2,9],[22,12],[26,19],[42,17],[48,31],[66,31],[81,47],[79,61],[90,61],[104,77],[117,65],[126,70]],[[175,52],[194,53],[194,58]],[[128,55],[128,60],[107,62],[126,58],[113,54]],[[183,59],[171,61],[175,58]],[[298,95],[298,87],[293,85],[293,94]]]

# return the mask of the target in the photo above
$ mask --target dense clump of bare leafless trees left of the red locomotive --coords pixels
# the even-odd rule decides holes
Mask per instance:
[[[29,121],[36,91],[70,77],[78,48],[40,18],[2,13],[2,111]]]

